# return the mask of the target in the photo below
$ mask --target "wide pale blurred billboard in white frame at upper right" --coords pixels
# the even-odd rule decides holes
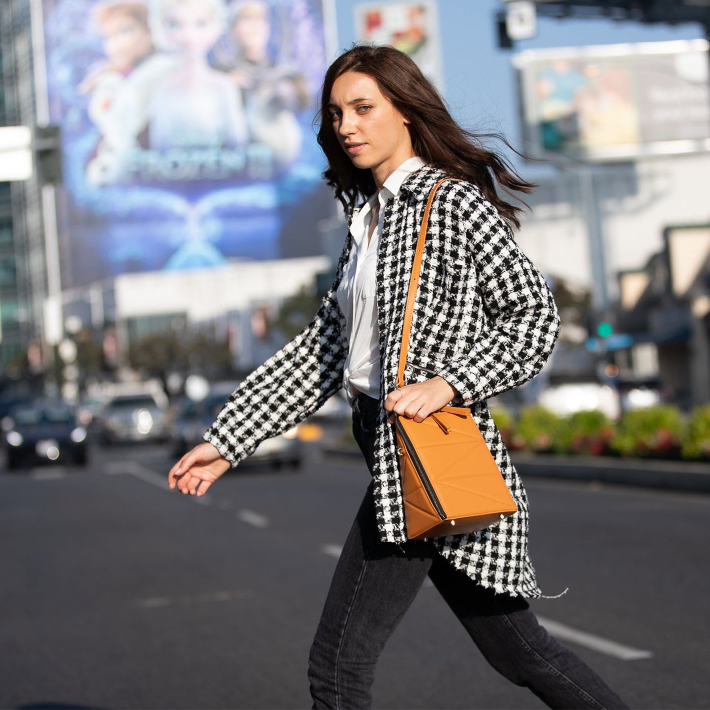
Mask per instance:
[[[708,60],[706,40],[520,53],[525,151],[589,160],[707,151]]]

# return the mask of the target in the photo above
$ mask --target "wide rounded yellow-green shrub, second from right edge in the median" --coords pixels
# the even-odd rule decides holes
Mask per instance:
[[[680,410],[672,405],[631,410],[610,445],[621,456],[672,458],[679,454],[682,429]]]

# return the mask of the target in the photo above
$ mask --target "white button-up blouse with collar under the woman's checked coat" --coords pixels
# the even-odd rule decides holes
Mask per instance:
[[[398,195],[405,179],[424,165],[421,158],[405,160],[385,180],[382,189],[354,215],[350,225],[353,246],[337,290],[338,305],[345,316],[348,343],[343,387],[350,401],[356,391],[375,399],[380,396],[376,268],[381,238],[381,215],[386,202]],[[376,201],[379,210],[374,210]],[[368,242],[367,235],[373,215],[377,224]]]

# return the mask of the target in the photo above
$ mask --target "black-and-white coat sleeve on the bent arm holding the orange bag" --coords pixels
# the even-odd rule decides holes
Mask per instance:
[[[474,197],[463,214],[459,224],[473,256],[484,327],[471,348],[439,374],[471,405],[540,372],[557,340],[559,316],[545,278],[515,243],[496,207]]]

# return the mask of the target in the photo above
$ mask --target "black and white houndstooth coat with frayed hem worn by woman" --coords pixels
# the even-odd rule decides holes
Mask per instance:
[[[430,190],[445,175],[421,168],[389,200],[377,264],[380,395],[395,388],[405,301],[417,233]],[[349,257],[348,236],[332,289],[315,319],[246,378],[204,439],[236,465],[267,437],[293,427],[342,386],[344,317],[335,290]],[[457,388],[454,403],[471,406],[510,488],[518,513],[470,535],[434,540],[439,553],[481,586],[540,596],[528,557],[528,499],[486,398],[540,371],[559,332],[545,279],[518,248],[481,191],[448,181],[432,205],[410,335],[408,383],[442,376]],[[392,425],[382,412],[376,438],[374,499],[382,540],[406,540]]]

